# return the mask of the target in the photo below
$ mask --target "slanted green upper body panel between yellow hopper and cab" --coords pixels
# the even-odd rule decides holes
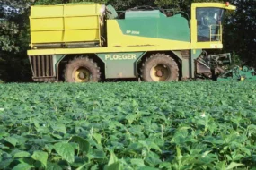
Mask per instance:
[[[146,16],[132,17],[132,20],[125,19],[117,21],[122,33],[126,35],[190,42],[189,23],[180,14],[173,17],[163,16],[158,18],[146,18]]]

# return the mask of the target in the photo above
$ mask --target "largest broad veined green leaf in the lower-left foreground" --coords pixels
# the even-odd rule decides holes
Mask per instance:
[[[75,150],[71,144],[65,142],[56,143],[54,149],[57,151],[57,154],[63,157],[67,162],[74,163]]]

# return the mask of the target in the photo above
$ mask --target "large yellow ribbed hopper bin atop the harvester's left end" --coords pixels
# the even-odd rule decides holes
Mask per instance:
[[[31,6],[31,47],[34,44],[99,42],[101,4]]]

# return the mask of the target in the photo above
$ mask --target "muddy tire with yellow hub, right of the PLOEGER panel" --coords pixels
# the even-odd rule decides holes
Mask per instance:
[[[179,67],[170,55],[151,55],[142,65],[143,81],[178,81]]]

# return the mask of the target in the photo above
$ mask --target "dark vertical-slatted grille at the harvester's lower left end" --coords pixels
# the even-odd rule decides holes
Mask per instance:
[[[54,80],[52,55],[30,56],[33,79],[36,81]]]

